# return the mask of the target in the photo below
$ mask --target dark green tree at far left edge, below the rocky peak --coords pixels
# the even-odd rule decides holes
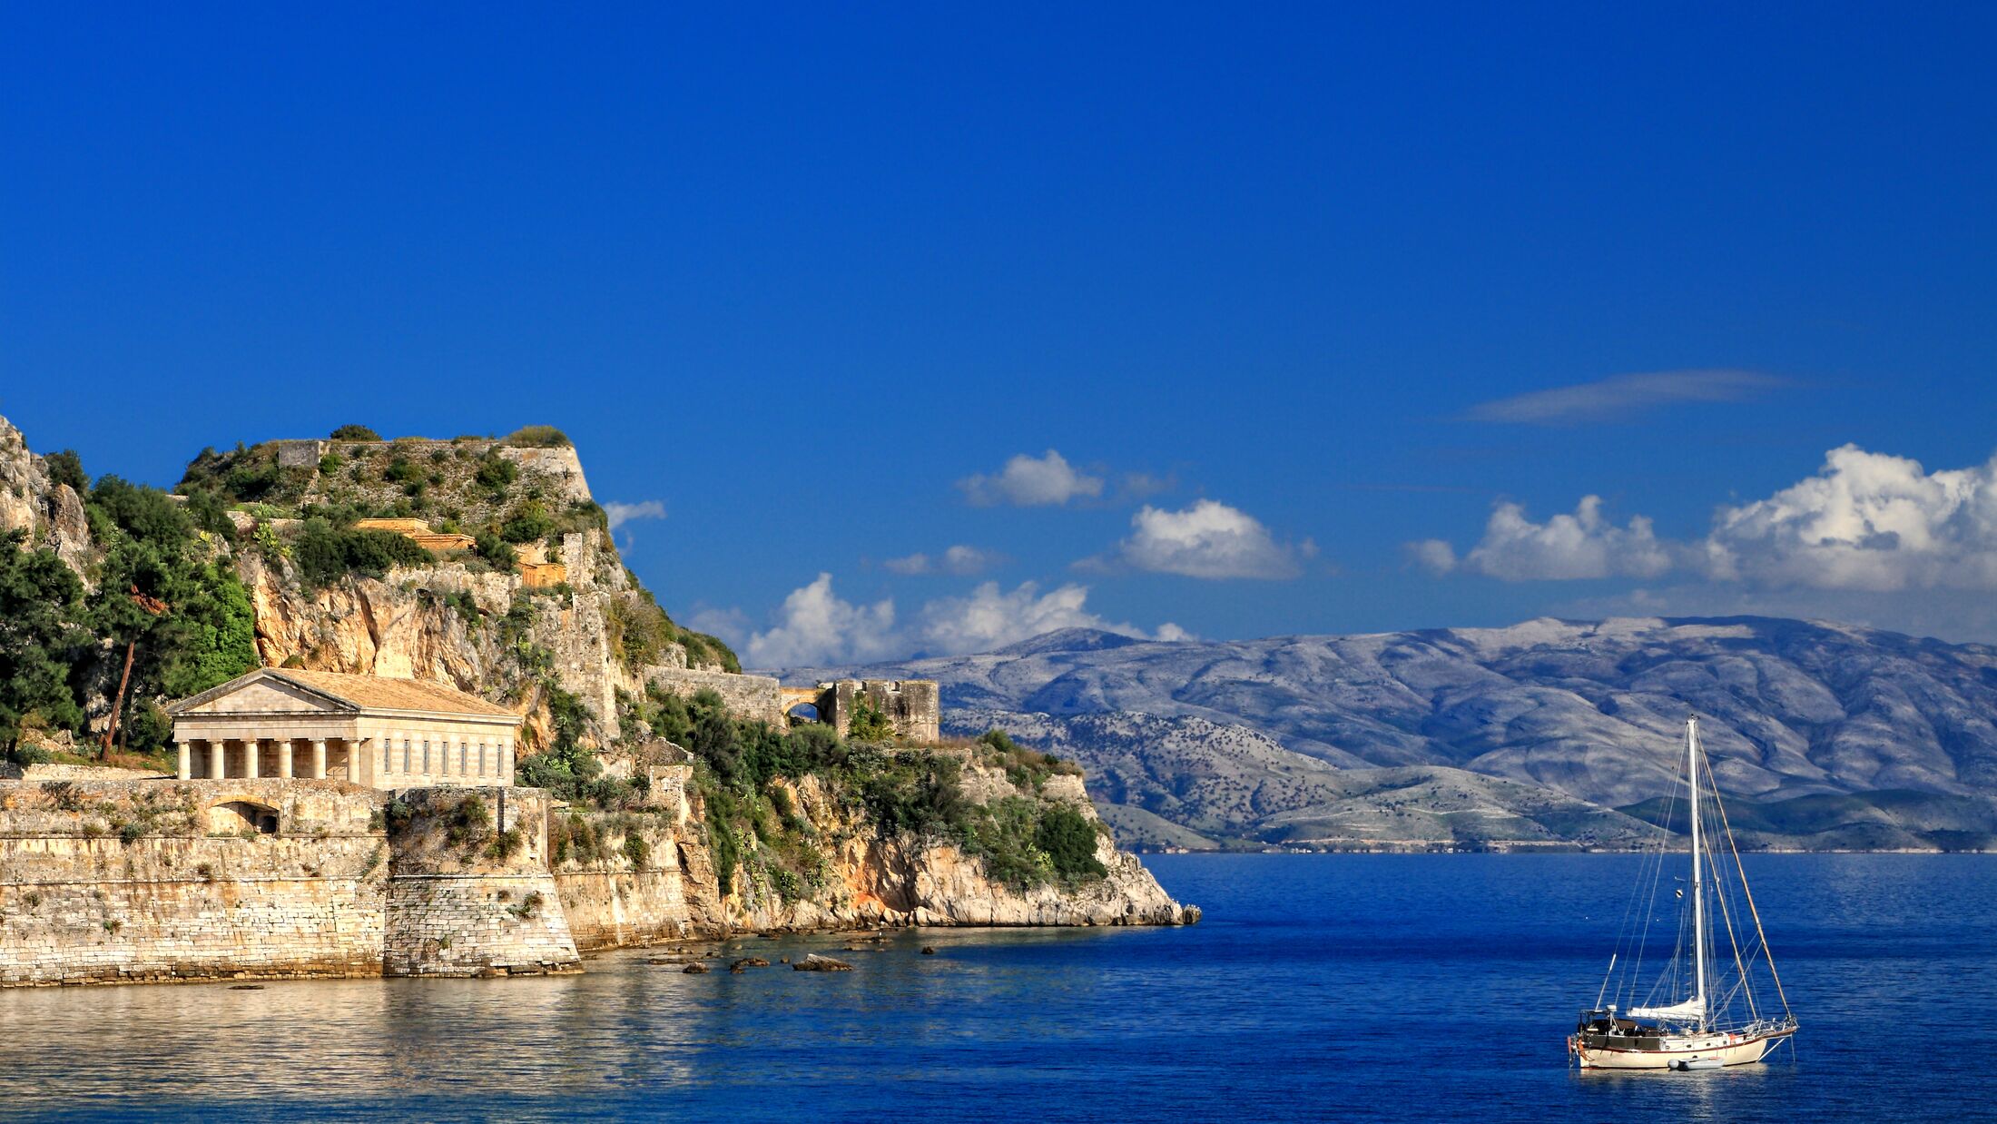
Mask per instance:
[[[68,671],[88,637],[76,629],[84,583],[52,551],[24,551],[26,531],[0,535],[0,751],[30,717],[54,729],[84,721]]]

